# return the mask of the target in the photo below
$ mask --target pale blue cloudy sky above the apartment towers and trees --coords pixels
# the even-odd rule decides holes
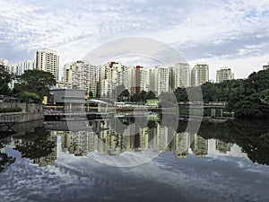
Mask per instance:
[[[63,66],[109,40],[137,36],[176,48],[191,67],[206,61],[213,80],[221,66],[230,66],[237,78],[243,78],[269,62],[268,0],[0,0],[0,4],[0,58],[10,63],[34,59],[40,48],[53,48]]]

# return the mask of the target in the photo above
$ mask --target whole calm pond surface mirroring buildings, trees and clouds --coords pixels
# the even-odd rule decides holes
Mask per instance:
[[[269,201],[268,122],[135,122],[50,121],[2,138],[1,201]]]

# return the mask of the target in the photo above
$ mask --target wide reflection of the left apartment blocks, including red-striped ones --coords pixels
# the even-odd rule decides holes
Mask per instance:
[[[142,151],[148,149],[148,130],[139,128],[139,133],[134,126],[128,127],[123,135],[111,129],[101,130],[100,133],[89,131],[58,131],[62,137],[62,151],[74,155],[86,155],[93,151],[102,154],[117,155],[125,151]]]

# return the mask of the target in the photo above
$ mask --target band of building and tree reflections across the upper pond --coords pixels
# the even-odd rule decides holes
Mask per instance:
[[[119,155],[127,151],[152,150],[156,154],[171,152],[177,158],[206,157],[211,154],[243,155],[253,161],[269,164],[269,130],[265,121],[226,122],[221,124],[203,122],[198,134],[186,132],[187,123],[178,122],[178,130],[163,126],[159,116],[152,116],[145,127],[134,125],[134,118],[119,117],[126,127],[115,131],[114,120],[74,122],[48,122],[45,127],[35,128],[22,136],[1,140],[1,168],[4,171],[15,158],[5,154],[12,147],[22,157],[29,158],[39,166],[56,162],[57,137],[61,137],[62,152],[85,156],[92,153]],[[112,128],[112,129],[111,129]],[[240,147],[241,153],[232,150]],[[232,153],[233,152],[233,153]]]

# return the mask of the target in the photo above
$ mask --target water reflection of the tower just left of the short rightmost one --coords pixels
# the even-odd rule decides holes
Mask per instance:
[[[195,134],[191,149],[196,157],[204,157],[208,154],[208,140]]]

